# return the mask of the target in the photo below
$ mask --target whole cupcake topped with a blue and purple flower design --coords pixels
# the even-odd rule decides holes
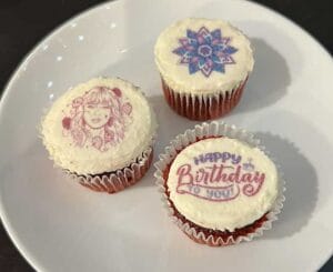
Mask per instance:
[[[238,104],[254,63],[249,39],[230,23],[210,19],[170,26],[158,38],[154,56],[169,105],[201,121]]]

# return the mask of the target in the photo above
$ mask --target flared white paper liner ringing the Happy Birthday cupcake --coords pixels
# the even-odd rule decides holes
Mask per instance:
[[[205,243],[212,246],[228,245],[228,244],[239,244],[243,241],[252,241],[254,238],[261,236],[263,231],[272,229],[272,222],[278,220],[278,214],[281,212],[283,208],[283,202],[285,200],[283,192],[285,191],[284,184],[285,181],[283,179],[283,173],[281,172],[280,165],[276,165],[278,177],[279,177],[279,193],[278,198],[272,206],[272,209],[266,213],[266,221],[262,223],[261,226],[255,229],[254,232],[248,233],[246,235],[238,236],[233,239],[233,236],[229,236],[228,239],[222,239],[219,236],[214,239],[212,234],[206,235],[201,231],[196,231],[194,228],[191,228],[188,222],[183,222],[182,219],[175,215],[175,210],[172,208],[169,197],[167,194],[167,188],[164,185],[165,180],[163,178],[163,172],[168,165],[173,161],[176,157],[178,152],[183,150],[191,143],[196,142],[198,140],[208,138],[208,137],[219,137],[225,135],[228,138],[238,139],[242,142],[248,143],[250,147],[256,147],[262,150],[272,161],[275,160],[271,158],[265,148],[260,144],[260,140],[255,139],[252,133],[246,132],[243,129],[238,129],[235,125],[229,125],[224,122],[211,122],[211,123],[202,123],[194,127],[192,130],[186,130],[183,134],[179,134],[174,140],[171,141],[171,144],[165,148],[165,152],[160,154],[160,160],[154,164],[157,171],[154,177],[157,178],[157,185],[159,187],[159,192],[162,194],[162,202],[164,208],[168,210],[169,216],[172,221],[192,240],[199,243]]]

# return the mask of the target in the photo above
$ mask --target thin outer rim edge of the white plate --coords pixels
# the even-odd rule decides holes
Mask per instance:
[[[109,0],[109,1],[101,2],[101,3],[95,3],[82,11],[79,11],[78,13],[70,17],[69,19],[64,20],[62,23],[60,23],[57,27],[54,27],[53,29],[51,29],[48,32],[48,34],[46,34],[43,38],[41,38],[23,56],[21,61],[19,61],[19,63],[16,66],[16,68],[13,69],[13,71],[11,72],[11,74],[9,75],[8,80],[6,81],[6,83],[2,88],[3,91],[0,95],[0,121],[1,121],[1,115],[3,114],[3,111],[4,111],[3,110],[4,104],[8,100],[9,93],[11,92],[11,87],[14,83],[14,81],[17,80],[18,73],[20,72],[20,70],[23,69],[24,64],[28,64],[33,59],[34,54],[38,52],[39,48],[43,43],[46,43],[48,40],[52,39],[58,33],[63,31],[70,24],[70,22],[72,22],[74,20],[81,20],[83,17],[89,16],[91,12],[93,12],[95,10],[102,9],[104,6],[110,7],[110,9],[112,9],[112,6],[114,6],[117,3],[125,2],[125,1],[127,0]],[[141,1],[141,0],[138,0],[138,1]],[[225,0],[220,0],[220,1],[225,1]],[[226,1],[230,1],[230,0],[226,0]],[[296,31],[302,32],[303,34],[312,38],[312,40],[316,43],[317,48],[320,48],[322,50],[322,53],[325,53],[325,54],[327,54],[329,58],[332,58],[330,51],[312,33],[310,33],[306,29],[302,28],[299,23],[294,22],[292,19],[280,13],[279,11],[276,11],[270,7],[266,7],[265,4],[259,3],[259,2],[253,2],[253,1],[248,1],[248,0],[232,0],[232,1],[241,2],[242,4],[245,3],[245,4],[254,6],[256,9],[262,9],[265,12],[270,12],[274,17],[278,17],[281,20],[286,21],[289,23],[289,26],[295,28]],[[26,249],[23,243],[20,241],[20,239],[17,234],[17,231],[14,230],[14,228],[11,226],[11,222],[9,220],[7,211],[3,208],[2,193],[0,193],[0,219],[1,219],[1,222],[2,222],[6,233],[8,234],[8,236],[10,238],[11,242],[17,248],[17,250],[20,252],[21,256],[23,256],[24,260],[29,263],[29,265],[37,271],[47,271],[43,268],[43,265],[37,260],[37,258],[32,256],[31,253],[29,252],[29,250]],[[332,252],[333,252],[333,250],[332,250]],[[321,262],[321,266],[317,269],[321,269],[331,258],[332,258],[332,253],[324,261]]]

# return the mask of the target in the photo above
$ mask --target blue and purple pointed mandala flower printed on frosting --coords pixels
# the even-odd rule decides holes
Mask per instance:
[[[188,29],[186,37],[179,39],[181,47],[172,52],[181,56],[180,63],[189,64],[189,73],[199,70],[209,78],[212,71],[224,73],[225,64],[234,64],[231,57],[238,51],[229,43],[231,38],[222,37],[221,30],[215,29],[210,32],[202,27],[198,32]]]

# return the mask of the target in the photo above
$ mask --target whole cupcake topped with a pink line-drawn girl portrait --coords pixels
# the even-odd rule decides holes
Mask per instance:
[[[138,87],[97,78],[61,95],[40,132],[57,167],[91,190],[114,193],[149,169],[155,129],[154,112]]]

